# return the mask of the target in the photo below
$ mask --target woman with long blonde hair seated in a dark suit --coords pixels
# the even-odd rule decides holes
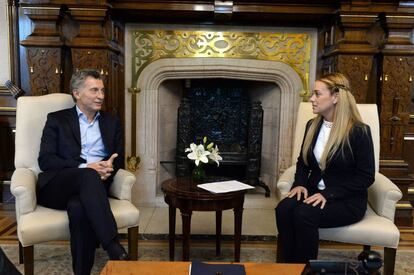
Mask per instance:
[[[276,207],[282,259],[305,263],[318,256],[319,228],[361,220],[374,182],[370,128],[361,120],[349,81],[340,73],[315,82],[317,116],[307,123],[295,180]]]

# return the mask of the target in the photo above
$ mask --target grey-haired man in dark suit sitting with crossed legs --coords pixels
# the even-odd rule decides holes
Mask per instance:
[[[50,113],[40,145],[38,203],[66,209],[72,266],[90,274],[98,243],[112,260],[126,260],[108,201],[113,175],[123,163],[120,122],[102,112],[105,91],[101,75],[76,72],[70,82],[73,108]]]

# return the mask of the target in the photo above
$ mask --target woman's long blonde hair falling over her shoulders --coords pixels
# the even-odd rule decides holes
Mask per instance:
[[[335,93],[338,94],[331,133],[320,160],[320,168],[323,171],[336,151],[341,149],[343,153],[345,145],[349,146],[350,130],[355,123],[362,123],[362,119],[357,109],[355,98],[351,94],[349,81],[343,74],[327,74],[317,81],[323,82],[331,92],[331,95]],[[317,115],[316,118],[312,120],[309,130],[307,131],[302,148],[302,158],[306,164],[308,164],[309,154],[312,153],[313,137],[317,134],[318,126],[322,120],[323,117]]]

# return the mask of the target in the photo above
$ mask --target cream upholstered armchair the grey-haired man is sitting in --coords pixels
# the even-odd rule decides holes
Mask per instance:
[[[20,263],[25,274],[33,274],[33,245],[48,241],[69,240],[66,211],[37,205],[36,181],[40,168],[37,157],[40,139],[49,112],[74,106],[68,94],[20,97],[16,112],[16,170],[11,179],[11,192],[16,198],[17,235]],[[139,211],[131,203],[135,176],[120,169],[110,189],[110,205],[118,229],[128,229],[128,250],[138,258]],[[22,251],[23,250],[23,251]],[[23,254],[23,255],[22,255]]]

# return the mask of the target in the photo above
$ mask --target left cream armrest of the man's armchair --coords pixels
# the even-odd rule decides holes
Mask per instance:
[[[36,208],[36,174],[28,168],[17,168],[11,178],[10,192],[16,198],[16,218]]]

